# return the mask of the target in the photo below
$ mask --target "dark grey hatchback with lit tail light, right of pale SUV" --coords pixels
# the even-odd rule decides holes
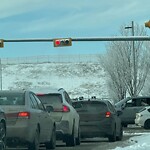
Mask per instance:
[[[81,138],[104,137],[110,142],[122,140],[123,128],[114,106],[108,100],[79,100],[73,102],[80,116]]]

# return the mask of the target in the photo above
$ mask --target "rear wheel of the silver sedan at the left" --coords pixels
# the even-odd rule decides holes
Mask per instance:
[[[28,150],[39,150],[39,137],[40,137],[40,132],[37,129],[34,137],[33,143],[29,143],[28,145]]]

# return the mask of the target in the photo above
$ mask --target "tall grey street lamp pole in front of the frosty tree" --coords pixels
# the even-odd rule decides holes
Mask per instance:
[[[125,29],[132,29],[132,36],[134,36],[134,21],[132,21],[131,26],[125,27]],[[132,41],[132,50],[133,50],[133,95],[137,96],[137,65],[136,65],[136,50],[135,50],[135,42]]]

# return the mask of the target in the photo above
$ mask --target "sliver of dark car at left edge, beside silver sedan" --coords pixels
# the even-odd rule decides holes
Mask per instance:
[[[0,150],[6,147],[6,118],[3,110],[0,108]]]

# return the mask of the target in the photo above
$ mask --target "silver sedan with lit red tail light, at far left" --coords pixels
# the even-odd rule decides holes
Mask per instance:
[[[7,119],[7,146],[38,150],[55,148],[55,122],[37,96],[27,90],[0,91],[0,105]]]

